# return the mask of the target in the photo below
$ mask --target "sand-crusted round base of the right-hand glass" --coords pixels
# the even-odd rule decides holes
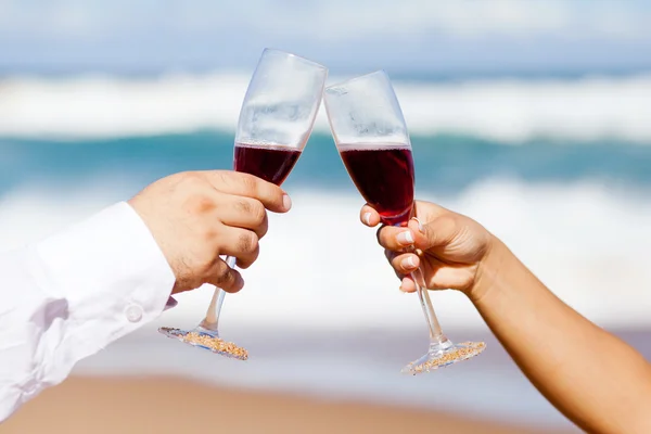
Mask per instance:
[[[463,342],[452,344],[450,341],[430,345],[427,353],[403,368],[403,373],[416,375],[426,373],[438,368],[445,368],[458,361],[467,360],[476,356],[486,348],[483,342]]]

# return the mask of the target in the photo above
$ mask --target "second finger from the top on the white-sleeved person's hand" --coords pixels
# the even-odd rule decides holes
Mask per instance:
[[[265,237],[269,220],[265,205],[260,201],[245,196],[226,196],[229,203],[219,207],[219,219],[231,227],[251,229],[258,239]],[[220,197],[224,201],[224,197]]]

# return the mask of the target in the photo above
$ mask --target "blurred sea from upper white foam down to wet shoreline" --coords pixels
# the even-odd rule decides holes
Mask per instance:
[[[1,248],[168,174],[230,168],[248,77],[0,79]],[[395,87],[418,197],[477,219],[600,326],[651,334],[651,75],[406,77]],[[363,202],[322,110],[284,188],[294,208],[271,216],[260,258],[243,273],[245,291],[225,304],[224,337],[246,346],[250,361],[234,365],[155,333],[194,326],[212,295],[200,290],[80,369],[186,372],[565,424],[494,341],[448,370],[398,374],[425,349],[422,314],[414,296],[398,293],[374,231],[358,222]],[[489,339],[462,295],[436,293],[433,302],[450,339]]]

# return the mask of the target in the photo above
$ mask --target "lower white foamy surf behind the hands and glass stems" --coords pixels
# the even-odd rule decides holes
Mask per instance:
[[[0,248],[37,240],[132,191],[110,179],[84,184],[56,194],[30,186],[4,195]],[[374,230],[358,222],[362,201],[357,194],[297,188],[292,196],[290,214],[270,216],[260,257],[243,272],[245,290],[227,297],[225,324],[424,327],[417,297],[398,292]],[[493,179],[461,194],[424,197],[476,218],[561,298],[600,326],[651,327],[648,194],[589,182],[532,186]],[[178,298],[166,321],[193,326],[210,291]],[[450,337],[455,328],[485,328],[463,295],[438,292],[433,302]]]

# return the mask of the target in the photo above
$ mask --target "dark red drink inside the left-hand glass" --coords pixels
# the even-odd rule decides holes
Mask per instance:
[[[301,156],[295,148],[235,143],[233,166],[237,171],[254,175],[280,186]]]

